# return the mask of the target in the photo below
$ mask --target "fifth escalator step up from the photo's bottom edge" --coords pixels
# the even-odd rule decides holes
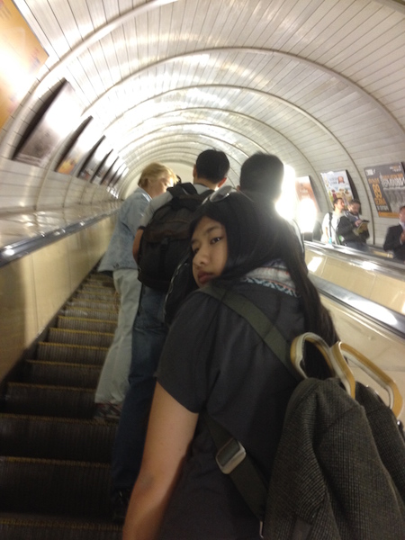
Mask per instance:
[[[23,382],[95,388],[100,371],[100,365],[26,360],[23,365]]]

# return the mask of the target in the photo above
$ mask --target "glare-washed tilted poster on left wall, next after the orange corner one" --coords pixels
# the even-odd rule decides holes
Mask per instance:
[[[74,89],[65,81],[45,112],[36,119],[37,123],[14,158],[29,165],[46,166],[55,149],[79,121],[81,112],[82,105]]]

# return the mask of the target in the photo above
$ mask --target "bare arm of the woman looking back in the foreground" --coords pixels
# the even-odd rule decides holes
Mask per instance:
[[[157,383],[139,477],[122,540],[155,540],[193,439],[198,414],[185,409]]]

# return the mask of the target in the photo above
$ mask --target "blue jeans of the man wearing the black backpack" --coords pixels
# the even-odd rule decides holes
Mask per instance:
[[[131,490],[139,474],[155,390],[154,374],[167,334],[165,297],[165,292],[142,285],[132,332],[130,387],[112,448],[112,497],[118,491]]]

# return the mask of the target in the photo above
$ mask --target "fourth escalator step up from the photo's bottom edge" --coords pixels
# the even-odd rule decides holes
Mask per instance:
[[[91,419],[94,390],[29,383],[7,383],[5,412]]]

